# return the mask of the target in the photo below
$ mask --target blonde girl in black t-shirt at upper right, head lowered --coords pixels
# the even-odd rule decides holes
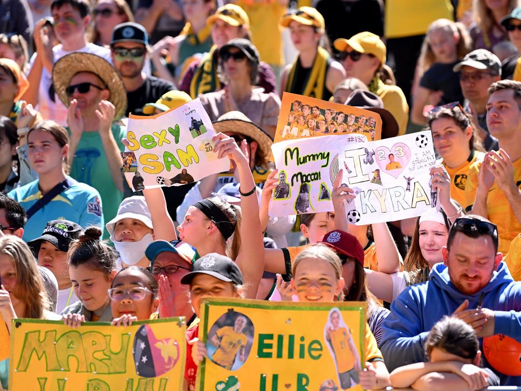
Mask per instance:
[[[431,23],[418,59],[419,86],[414,94],[411,120],[425,125],[425,105],[463,103],[460,80],[452,70],[470,52],[470,38],[460,23],[438,19]]]

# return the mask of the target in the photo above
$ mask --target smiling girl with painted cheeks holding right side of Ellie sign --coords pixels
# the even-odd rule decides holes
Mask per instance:
[[[293,263],[292,272],[291,285],[299,301],[311,303],[343,300],[345,280],[342,277],[342,264],[338,255],[326,246],[312,246],[302,251]],[[389,372],[368,326],[365,344],[367,362],[365,369],[358,368],[359,384],[364,389],[381,389],[389,386]],[[337,361],[340,354],[345,355],[348,352],[335,352]],[[343,378],[343,374],[344,372],[339,373],[339,377]]]

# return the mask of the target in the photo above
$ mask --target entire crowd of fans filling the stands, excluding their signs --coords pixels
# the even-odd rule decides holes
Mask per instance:
[[[4,389],[13,319],[172,316],[195,389],[204,297],[366,301],[367,362],[343,376],[367,389],[521,385],[481,355],[483,337],[521,343],[521,2],[8,0],[0,15]],[[352,225],[340,173],[330,212],[270,217],[283,92],[376,112],[382,138],[429,130],[440,211]],[[125,117],[196,98],[234,168],[133,193]],[[290,121],[326,134],[341,114]]]

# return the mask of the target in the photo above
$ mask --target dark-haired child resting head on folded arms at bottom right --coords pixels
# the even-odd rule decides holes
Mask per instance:
[[[494,372],[480,368],[481,352],[474,329],[457,317],[444,316],[432,326],[425,350],[428,362],[404,365],[391,373],[393,387],[474,391],[499,386]]]

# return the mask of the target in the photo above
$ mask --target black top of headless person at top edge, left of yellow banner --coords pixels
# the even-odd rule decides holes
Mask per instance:
[[[324,17],[326,33],[332,43],[369,31],[383,36],[383,9],[378,0],[319,0],[316,8]]]

